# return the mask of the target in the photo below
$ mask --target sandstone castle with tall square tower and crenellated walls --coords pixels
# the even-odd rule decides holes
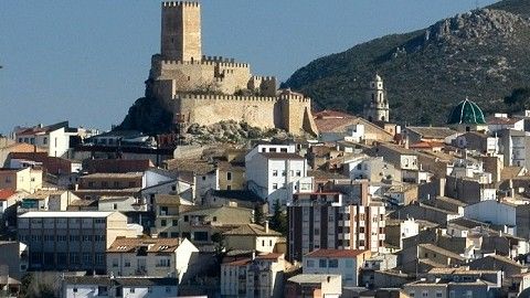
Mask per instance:
[[[146,95],[171,111],[174,123],[235,120],[318,134],[310,98],[278,91],[275,77],[252,75],[246,63],[202,55],[200,3],[162,2],[161,11],[160,54],[151,58]]]

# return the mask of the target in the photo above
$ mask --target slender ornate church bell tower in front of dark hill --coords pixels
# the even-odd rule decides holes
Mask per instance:
[[[368,105],[364,107],[364,116],[369,121],[389,121],[390,109],[389,100],[386,100],[386,92],[384,91],[383,79],[375,74],[370,82],[370,89],[367,93]]]

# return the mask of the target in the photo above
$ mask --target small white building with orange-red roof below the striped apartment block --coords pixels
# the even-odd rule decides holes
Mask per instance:
[[[370,258],[369,251],[317,249],[304,256],[304,274],[342,276],[343,287],[359,286],[359,270]]]

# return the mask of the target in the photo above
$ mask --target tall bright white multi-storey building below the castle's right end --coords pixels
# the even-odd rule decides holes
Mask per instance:
[[[306,159],[296,153],[259,152],[245,162],[245,168],[248,190],[267,200],[272,212],[276,201],[282,206],[290,201],[298,191],[294,182],[307,175],[308,166]]]

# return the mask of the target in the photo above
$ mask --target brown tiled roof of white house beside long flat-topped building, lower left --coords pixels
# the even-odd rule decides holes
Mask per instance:
[[[179,238],[116,238],[107,253],[130,253],[147,247],[147,253],[172,253],[181,241]]]

